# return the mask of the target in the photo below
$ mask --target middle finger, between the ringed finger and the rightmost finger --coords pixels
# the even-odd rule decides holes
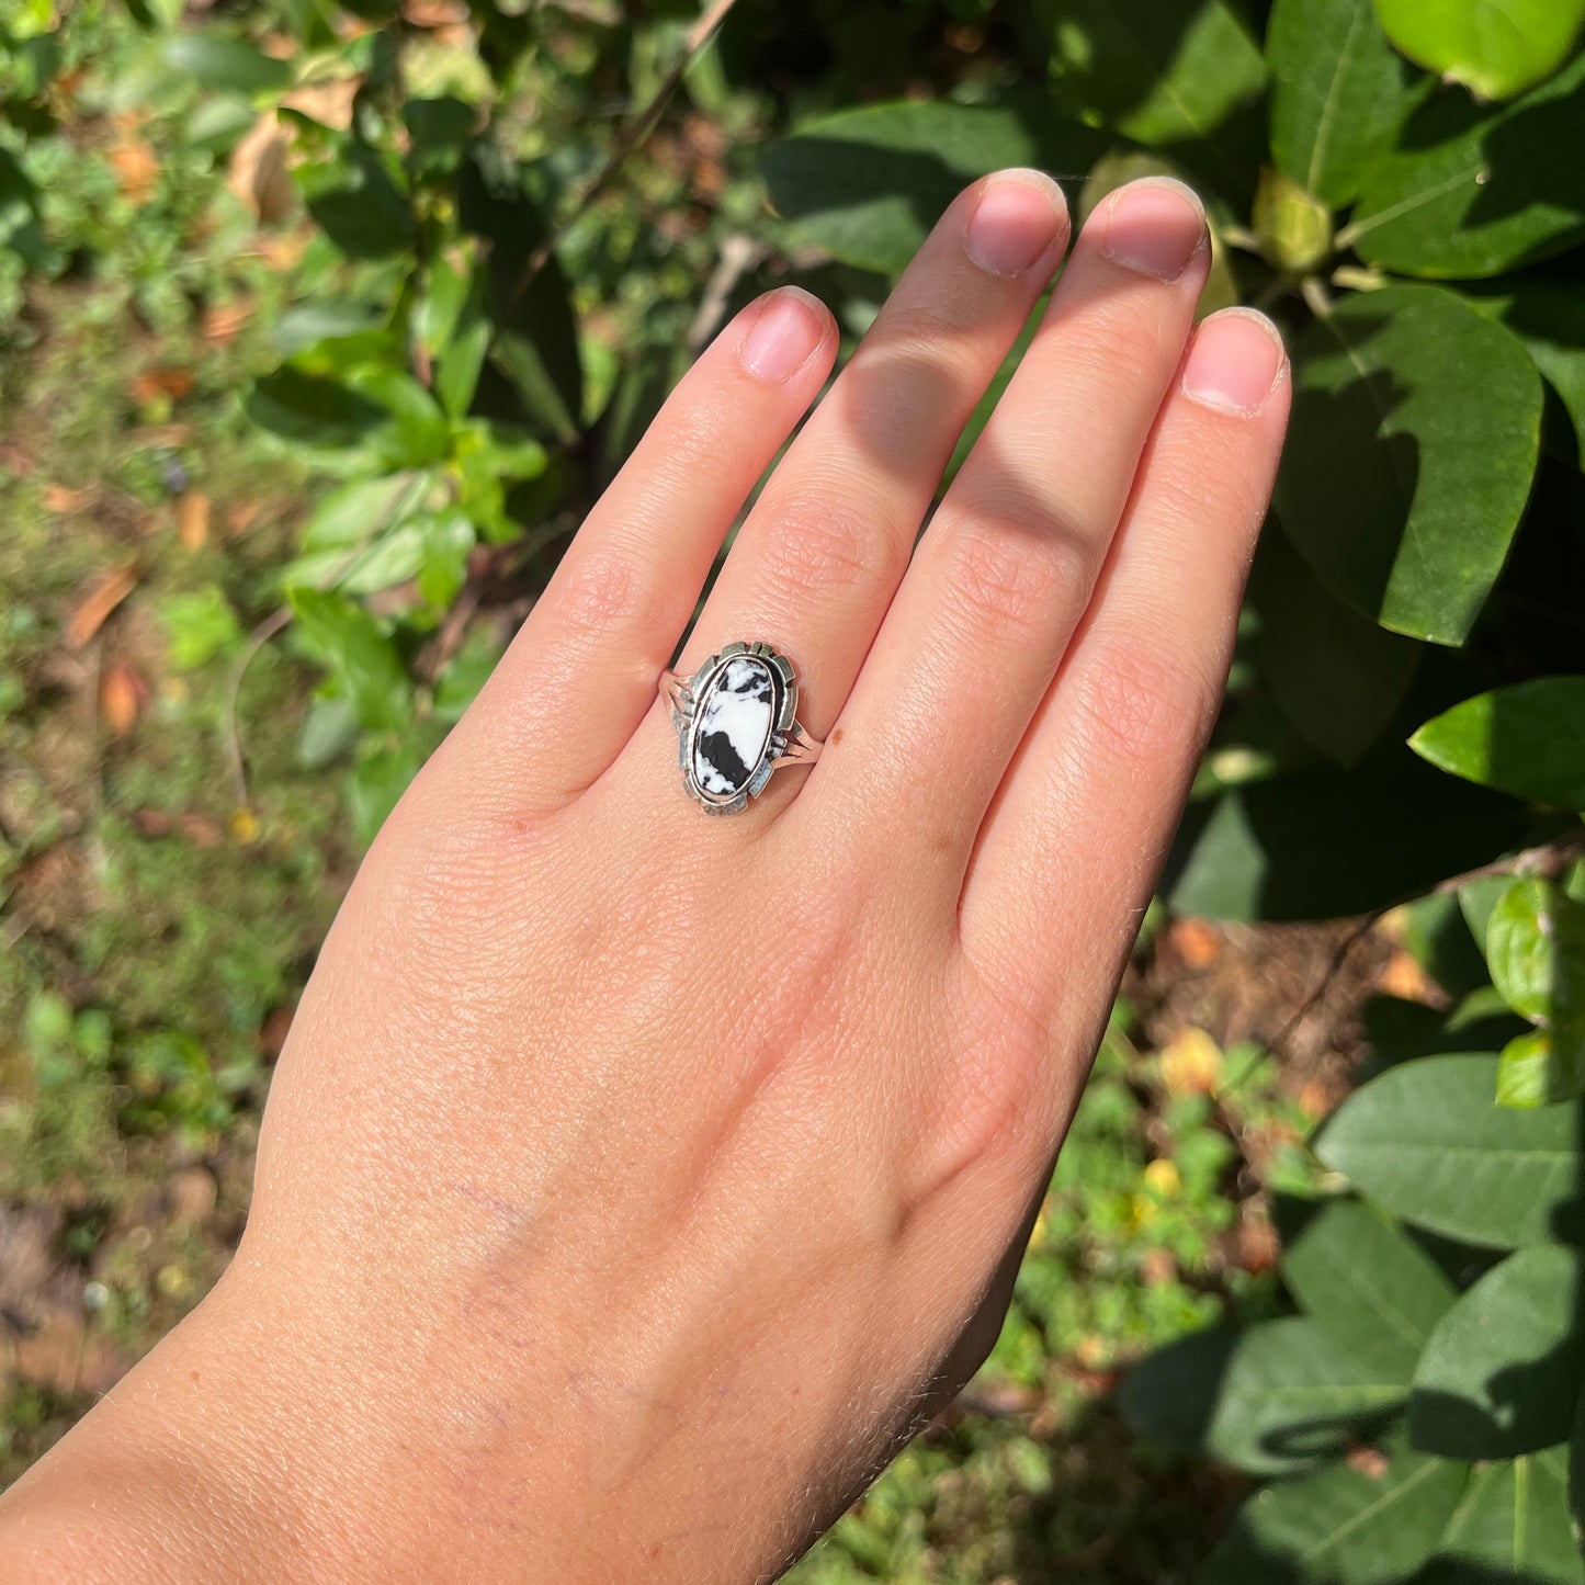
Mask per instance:
[[[843,715],[832,791],[854,816],[900,804],[900,838],[959,875],[1089,602],[1208,260],[1181,182],[1135,182],[1095,211]]]

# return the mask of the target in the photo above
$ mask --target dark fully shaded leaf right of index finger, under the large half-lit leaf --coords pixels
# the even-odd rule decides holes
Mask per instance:
[[[1251,653],[1295,731],[1352,766],[1392,720],[1420,645],[1335,599],[1282,534],[1263,534],[1249,585],[1260,613]]]

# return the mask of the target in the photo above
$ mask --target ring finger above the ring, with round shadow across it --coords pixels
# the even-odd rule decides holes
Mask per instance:
[[[804,724],[826,731],[1065,246],[1062,190],[1038,171],[959,195],[739,531],[685,669],[732,640],[773,644],[799,669]]]

